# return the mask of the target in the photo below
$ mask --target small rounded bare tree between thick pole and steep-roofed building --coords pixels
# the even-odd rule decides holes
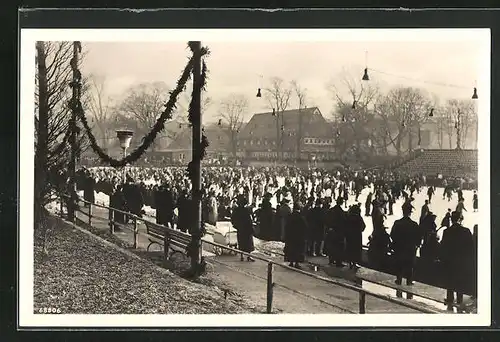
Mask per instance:
[[[243,127],[245,115],[248,111],[248,99],[241,94],[231,94],[221,101],[219,106],[219,120],[226,131],[231,145],[231,153],[236,158],[238,135]]]

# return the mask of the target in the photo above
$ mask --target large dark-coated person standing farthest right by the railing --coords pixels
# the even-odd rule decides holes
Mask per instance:
[[[474,239],[468,228],[461,224],[461,213],[451,213],[451,226],[441,238],[441,262],[446,279],[446,302],[451,304],[457,293],[457,304],[463,302],[464,283],[474,261]]]

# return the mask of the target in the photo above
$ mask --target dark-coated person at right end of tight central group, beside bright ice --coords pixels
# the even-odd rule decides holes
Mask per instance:
[[[346,225],[346,259],[349,261],[351,269],[359,268],[365,228],[366,224],[361,217],[361,208],[359,205],[353,205],[347,214]]]

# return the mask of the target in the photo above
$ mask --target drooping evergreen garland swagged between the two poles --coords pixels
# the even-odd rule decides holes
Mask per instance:
[[[189,42],[188,45],[191,48],[191,50],[193,51],[192,42]],[[206,54],[208,54],[208,49],[202,48],[201,55],[204,56]],[[176,108],[177,98],[178,98],[179,94],[182,91],[184,91],[186,88],[186,83],[191,77],[193,65],[194,65],[194,58],[191,57],[189,59],[189,62],[186,65],[186,67],[184,68],[184,71],[182,72],[181,77],[177,81],[176,88],[169,92],[170,98],[169,98],[168,102],[165,104],[165,110],[160,115],[160,117],[156,121],[156,123],[153,126],[153,128],[151,129],[151,131],[142,138],[141,145],[139,145],[132,153],[130,153],[129,155],[127,155],[125,158],[122,158],[122,159],[114,159],[114,158],[110,157],[97,144],[96,138],[92,134],[91,128],[87,122],[87,118],[85,117],[85,113],[84,113],[84,110],[83,110],[83,107],[82,107],[82,104],[81,104],[79,97],[77,99],[72,99],[72,101],[70,101],[70,108],[71,108],[71,110],[74,110],[76,112],[77,117],[82,122],[83,127],[85,128],[85,131],[87,133],[87,136],[89,137],[90,146],[92,147],[94,152],[99,156],[99,158],[103,162],[105,162],[113,167],[123,167],[129,163],[133,163],[133,162],[137,161],[144,154],[144,152],[146,152],[146,150],[151,146],[153,141],[156,139],[156,136],[158,135],[158,133],[160,133],[164,129],[165,122],[172,118],[172,111]],[[76,63],[71,63],[71,68],[78,75],[81,75]],[[206,70],[206,67],[205,67],[205,70]],[[203,77],[202,77],[201,83],[204,84]],[[72,82],[72,86],[76,86],[78,91],[80,92],[81,86],[82,86],[81,85],[81,77],[79,80],[77,80],[77,82],[75,82],[75,81]],[[192,100],[191,100],[191,103],[192,103]],[[190,105],[190,112],[191,112],[191,105]]]

